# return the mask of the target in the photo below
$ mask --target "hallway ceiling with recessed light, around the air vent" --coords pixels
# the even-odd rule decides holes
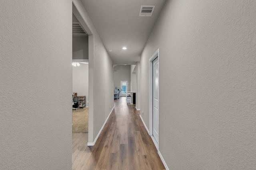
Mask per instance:
[[[166,0],[81,0],[114,64],[136,64]],[[139,16],[140,6],[155,6]],[[126,47],[127,49],[122,49]],[[112,49],[112,52],[109,51]]]

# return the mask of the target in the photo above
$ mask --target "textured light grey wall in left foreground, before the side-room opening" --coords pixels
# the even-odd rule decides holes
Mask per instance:
[[[72,168],[71,3],[0,1],[1,170]]]

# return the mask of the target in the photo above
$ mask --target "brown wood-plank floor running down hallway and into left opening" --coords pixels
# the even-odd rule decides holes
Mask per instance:
[[[72,134],[73,170],[165,170],[135,106],[114,100],[96,144],[87,146],[88,133]]]

